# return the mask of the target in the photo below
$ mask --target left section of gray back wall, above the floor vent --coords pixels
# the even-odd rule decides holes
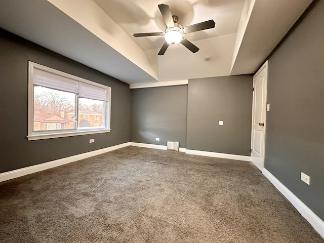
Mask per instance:
[[[133,89],[131,103],[131,142],[186,147],[186,85]]]

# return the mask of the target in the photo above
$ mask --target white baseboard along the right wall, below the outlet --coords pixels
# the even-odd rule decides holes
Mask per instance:
[[[267,169],[263,169],[263,175],[292,203],[292,205],[294,205],[297,211],[324,238],[324,222]]]

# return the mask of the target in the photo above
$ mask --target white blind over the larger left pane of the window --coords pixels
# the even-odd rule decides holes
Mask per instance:
[[[60,91],[78,93],[78,82],[71,78],[33,68],[33,84]]]

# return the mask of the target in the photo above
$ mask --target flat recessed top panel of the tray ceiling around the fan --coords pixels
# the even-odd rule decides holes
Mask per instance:
[[[194,42],[220,35],[236,33],[245,0],[217,1],[106,1],[94,0],[110,18],[123,29],[144,51],[160,49],[164,43],[162,36],[133,37],[134,31],[160,32],[166,24],[157,7],[160,3],[168,4],[173,15],[178,16],[182,27],[214,19],[216,27],[209,30],[188,33],[185,37]],[[149,3],[149,4],[148,4]],[[201,47],[200,47],[201,48]],[[189,53],[190,54],[190,53]]]

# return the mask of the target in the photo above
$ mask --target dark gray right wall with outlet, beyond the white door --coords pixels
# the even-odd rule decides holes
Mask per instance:
[[[324,220],[324,1],[269,58],[265,168]],[[310,185],[300,180],[310,176]]]

